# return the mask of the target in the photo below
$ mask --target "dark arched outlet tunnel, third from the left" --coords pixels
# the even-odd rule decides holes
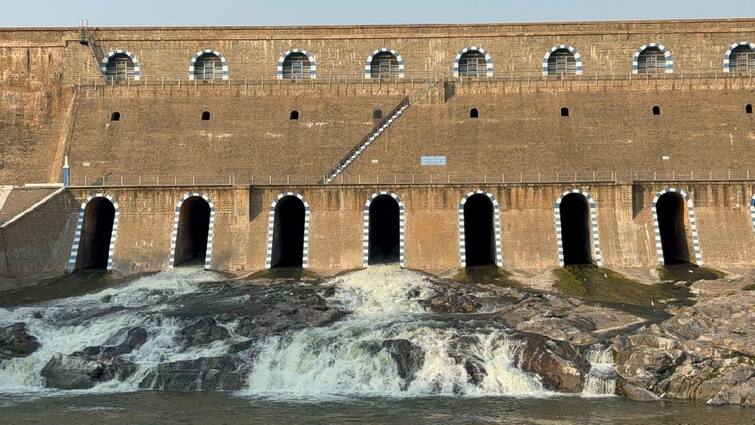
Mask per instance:
[[[304,261],[304,202],[285,196],[275,206],[273,252],[270,266],[302,267]]]

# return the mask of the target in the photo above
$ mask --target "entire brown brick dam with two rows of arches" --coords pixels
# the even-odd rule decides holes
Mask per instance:
[[[746,269],[751,24],[4,29],[0,274]]]

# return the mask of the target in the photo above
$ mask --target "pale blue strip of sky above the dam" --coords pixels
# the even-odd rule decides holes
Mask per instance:
[[[551,22],[755,17],[753,0],[4,0],[2,27]],[[748,16],[749,15],[749,16]]]

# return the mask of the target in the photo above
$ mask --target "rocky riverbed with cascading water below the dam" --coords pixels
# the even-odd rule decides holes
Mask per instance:
[[[755,403],[753,275],[647,286],[571,270],[535,291],[486,273],[184,271],[20,297],[31,301],[0,309],[0,391]]]

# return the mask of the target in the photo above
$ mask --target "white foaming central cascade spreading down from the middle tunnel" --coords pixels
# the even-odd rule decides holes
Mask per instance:
[[[505,330],[468,330],[463,324],[456,329],[428,318],[418,302],[431,289],[422,275],[378,266],[334,283],[329,301],[353,314],[329,327],[268,338],[245,394],[292,399],[551,395],[537,376],[513,363],[516,346]],[[395,339],[425,351],[424,364],[408,387],[382,349],[383,341]],[[469,382],[466,358],[475,358],[487,373],[479,386]]]

